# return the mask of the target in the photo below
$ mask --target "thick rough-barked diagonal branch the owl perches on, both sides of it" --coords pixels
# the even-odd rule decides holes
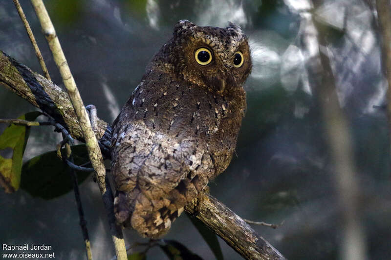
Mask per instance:
[[[1,51],[0,84],[53,117],[68,129],[73,138],[84,141],[68,95],[50,80],[32,72]],[[111,133],[111,126],[98,119],[95,135],[107,158],[110,158]],[[204,222],[246,259],[285,259],[244,220],[210,195],[202,193],[199,198],[187,205],[185,210]],[[113,217],[114,214],[111,218]]]

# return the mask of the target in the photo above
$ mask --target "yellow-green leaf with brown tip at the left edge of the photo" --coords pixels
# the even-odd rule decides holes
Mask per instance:
[[[29,112],[18,119],[33,121],[41,112]],[[30,127],[10,124],[0,136],[0,150],[11,148],[12,158],[6,159],[0,156],[0,184],[6,193],[12,193],[19,189],[21,183],[21,170],[24,149]]]

